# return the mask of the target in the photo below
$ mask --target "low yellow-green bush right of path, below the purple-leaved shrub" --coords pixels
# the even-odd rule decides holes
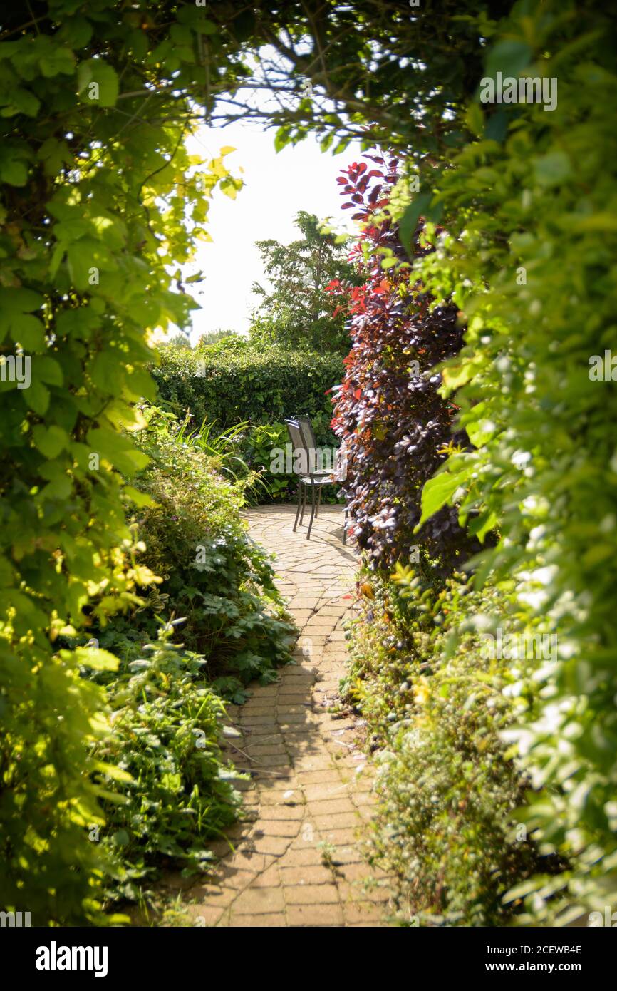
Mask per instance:
[[[500,736],[523,702],[503,694],[507,662],[481,659],[471,621],[499,597],[459,574],[442,589],[409,569],[394,577],[363,576],[345,685],[379,750],[372,856],[395,878],[403,924],[507,925],[520,901],[501,899],[540,857],[515,821],[526,782]]]

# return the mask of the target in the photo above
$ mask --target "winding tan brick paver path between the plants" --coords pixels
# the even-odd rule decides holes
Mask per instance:
[[[371,767],[358,720],[337,714],[345,673],[343,619],[353,608],[356,556],[342,542],[343,513],[324,506],[306,540],[292,532],[293,506],[247,512],[251,535],[276,554],[277,584],[300,628],[297,663],[276,685],[255,686],[230,708],[241,733],[228,738],[251,822],[230,830],[213,883],[188,894],[197,925],[383,926],[387,879],[362,857],[371,816]],[[368,886],[366,882],[368,881]]]

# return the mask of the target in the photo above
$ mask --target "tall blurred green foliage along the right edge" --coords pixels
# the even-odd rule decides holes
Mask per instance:
[[[472,101],[473,137],[420,171],[448,234],[417,273],[469,316],[443,394],[458,389],[475,448],[427,484],[424,515],[453,502],[498,520],[478,581],[511,577],[503,621],[558,638],[554,663],[521,674],[535,704],[518,741],[542,786],[529,825],[570,863],[560,899],[530,883],[529,918],[566,925],[617,895],[617,392],[590,374],[615,340],[615,25],[597,4],[517,4],[492,42],[485,76],[507,49],[517,73],[559,76],[559,103]]]

